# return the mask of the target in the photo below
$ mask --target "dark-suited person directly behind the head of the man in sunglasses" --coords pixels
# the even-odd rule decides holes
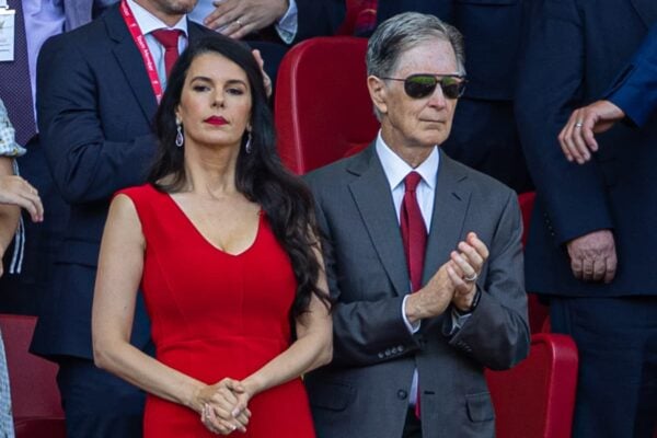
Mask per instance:
[[[465,42],[468,87],[449,138],[451,158],[527,192],[533,185],[514,115],[517,55],[525,0],[381,0],[377,21],[405,11],[430,13],[453,24]]]

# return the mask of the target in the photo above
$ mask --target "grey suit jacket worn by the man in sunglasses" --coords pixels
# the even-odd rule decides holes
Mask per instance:
[[[319,436],[400,438],[416,368],[425,438],[494,436],[484,367],[512,367],[529,351],[515,193],[440,152],[424,280],[471,230],[491,257],[479,307],[459,332],[449,335],[448,309],[411,335],[402,318],[410,284],[402,238],[373,146],[307,181],[336,299],[333,362],[306,379]]]

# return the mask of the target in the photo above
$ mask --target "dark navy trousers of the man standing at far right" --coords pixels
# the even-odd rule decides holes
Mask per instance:
[[[573,437],[652,438],[657,420],[657,297],[552,298],[552,331],[573,336]]]

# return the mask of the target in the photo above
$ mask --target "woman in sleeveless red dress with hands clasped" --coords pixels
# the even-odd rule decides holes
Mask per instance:
[[[105,226],[96,364],[149,393],[146,437],[314,437],[300,376],[331,360],[327,287],[252,54],[220,36],[187,48],[155,124],[149,184],[119,192]],[[129,344],[139,288],[154,358]]]

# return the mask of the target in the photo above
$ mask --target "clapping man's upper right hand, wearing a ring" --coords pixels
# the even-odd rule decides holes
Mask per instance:
[[[465,241],[459,242],[458,249],[450,254],[447,274],[454,288],[452,304],[468,312],[476,293],[476,279],[488,258],[488,249],[474,232],[469,232]]]

